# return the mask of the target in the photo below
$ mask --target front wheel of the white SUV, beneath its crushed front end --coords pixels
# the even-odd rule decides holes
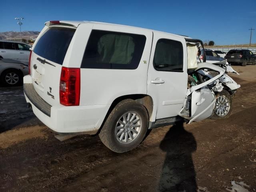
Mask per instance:
[[[221,102],[221,100],[222,100],[222,102]],[[223,106],[223,102],[224,103],[228,102],[228,103],[226,103]],[[221,108],[219,107],[219,110],[218,110],[218,106],[221,107]],[[228,110],[228,112],[225,113],[225,111],[223,111],[223,110],[221,111],[220,109]],[[218,94],[216,95],[216,104],[215,104],[215,107],[212,111],[211,119],[226,119],[226,118],[229,118],[229,116],[231,115],[232,109],[233,109],[232,98],[231,98],[229,92],[227,90],[222,90],[221,92],[218,92]]]

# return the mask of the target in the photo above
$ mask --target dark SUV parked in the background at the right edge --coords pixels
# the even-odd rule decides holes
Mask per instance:
[[[240,63],[246,66],[248,63],[256,65],[256,55],[247,49],[232,49],[226,54],[228,63]]]

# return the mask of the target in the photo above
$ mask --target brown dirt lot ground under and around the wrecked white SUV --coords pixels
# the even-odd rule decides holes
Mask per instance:
[[[0,191],[256,191],[256,66],[234,69],[230,118],[154,129],[123,154],[98,136],[58,141],[21,87],[0,88]]]

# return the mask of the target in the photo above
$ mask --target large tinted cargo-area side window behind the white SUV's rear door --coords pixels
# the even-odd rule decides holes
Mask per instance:
[[[144,35],[92,30],[81,68],[136,69],[145,43]]]

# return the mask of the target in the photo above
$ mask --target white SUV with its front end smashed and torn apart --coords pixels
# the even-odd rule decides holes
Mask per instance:
[[[54,132],[99,134],[126,152],[148,129],[229,116],[240,86],[224,68],[196,62],[200,44],[131,26],[46,22],[30,53],[26,101]]]

